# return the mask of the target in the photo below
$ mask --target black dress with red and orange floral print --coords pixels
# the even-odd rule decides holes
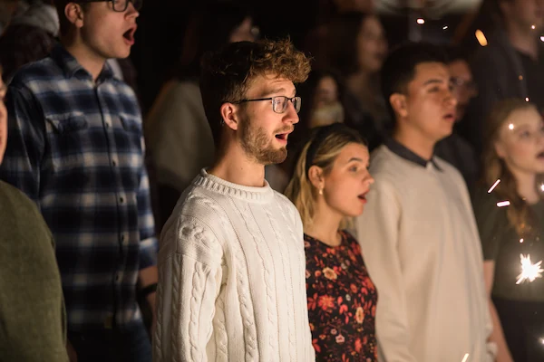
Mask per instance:
[[[345,231],[328,246],[304,235],[308,317],[316,361],[377,360],[377,292],[359,243]]]

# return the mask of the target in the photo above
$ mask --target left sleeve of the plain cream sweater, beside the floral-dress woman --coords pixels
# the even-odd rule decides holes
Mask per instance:
[[[393,187],[380,180],[368,194],[368,205],[356,222],[364,262],[378,291],[376,336],[380,359],[415,362],[409,348],[409,330],[403,271],[399,258],[401,205]]]

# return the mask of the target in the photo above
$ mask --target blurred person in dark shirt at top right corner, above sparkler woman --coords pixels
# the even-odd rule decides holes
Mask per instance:
[[[486,33],[487,46],[475,52],[471,67],[478,84],[472,102],[470,142],[481,154],[482,125],[500,100],[529,100],[544,111],[544,30],[542,0],[496,0],[498,28]]]

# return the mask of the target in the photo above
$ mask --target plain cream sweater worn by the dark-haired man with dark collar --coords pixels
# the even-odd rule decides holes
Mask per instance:
[[[422,167],[377,148],[375,184],[357,220],[378,291],[380,361],[490,362],[491,319],[467,187],[438,157]]]

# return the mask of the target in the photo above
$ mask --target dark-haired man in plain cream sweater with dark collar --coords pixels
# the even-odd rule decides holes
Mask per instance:
[[[395,119],[377,148],[375,184],[356,223],[379,302],[376,334],[386,362],[493,360],[478,230],[461,174],[433,156],[452,133],[455,106],[444,58],[407,44],[383,69]]]

